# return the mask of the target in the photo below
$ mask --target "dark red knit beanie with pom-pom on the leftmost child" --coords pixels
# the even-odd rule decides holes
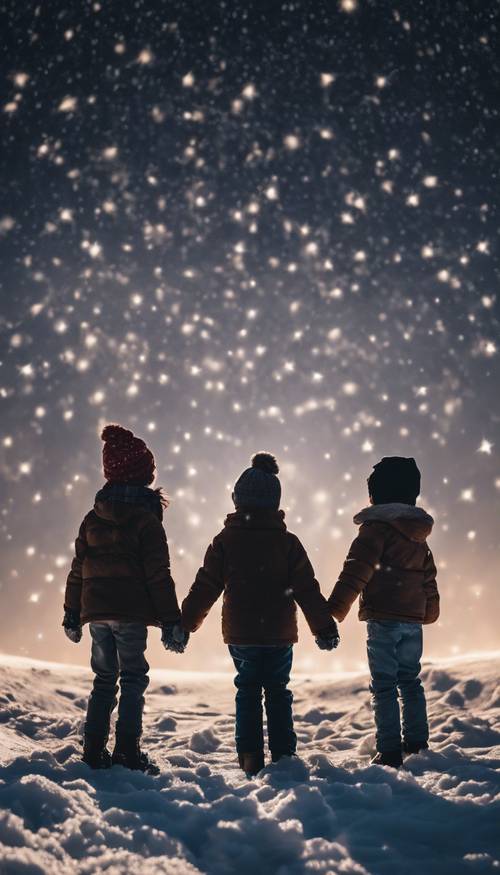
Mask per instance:
[[[144,441],[121,425],[106,425],[101,438],[104,476],[109,483],[149,486],[153,482],[155,460]]]

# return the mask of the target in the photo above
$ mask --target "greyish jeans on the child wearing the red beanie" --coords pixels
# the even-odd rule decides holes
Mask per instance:
[[[149,665],[144,657],[147,626],[115,621],[91,623],[90,634],[91,666],[95,678],[87,706],[85,732],[108,737],[120,678],[116,731],[138,738],[142,730],[144,691],[149,684]]]

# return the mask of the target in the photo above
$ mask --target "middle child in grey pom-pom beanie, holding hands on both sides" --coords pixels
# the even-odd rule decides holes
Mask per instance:
[[[208,548],[203,568],[182,605],[182,625],[198,629],[224,593],[222,634],[236,667],[236,749],[249,775],[264,767],[262,689],[273,762],[293,756],[292,693],[287,689],[297,641],[297,602],[321,649],[339,641],[306,551],[287,531],[279,510],[279,468],[257,453],[237,481],[236,512]]]

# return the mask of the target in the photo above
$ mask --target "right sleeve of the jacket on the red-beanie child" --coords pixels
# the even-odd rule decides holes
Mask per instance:
[[[140,531],[139,544],[146,588],[158,622],[177,623],[181,612],[170,573],[167,536],[160,520],[152,514]]]

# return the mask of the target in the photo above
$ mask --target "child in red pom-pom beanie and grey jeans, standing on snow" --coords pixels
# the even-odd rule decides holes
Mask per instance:
[[[112,763],[158,774],[141,753],[144,692],[149,683],[144,658],[148,626],[162,626],[163,643],[174,640],[180,618],[162,526],[167,502],[150,489],[153,454],[144,441],[119,425],[102,432],[106,485],[80,526],[75,558],[66,584],[64,631],[77,643],[90,623],[91,665],[95,673],[84,729],[83,761],[91,768]],[[110,717],[120,701],[113,756],[106,749]]]

